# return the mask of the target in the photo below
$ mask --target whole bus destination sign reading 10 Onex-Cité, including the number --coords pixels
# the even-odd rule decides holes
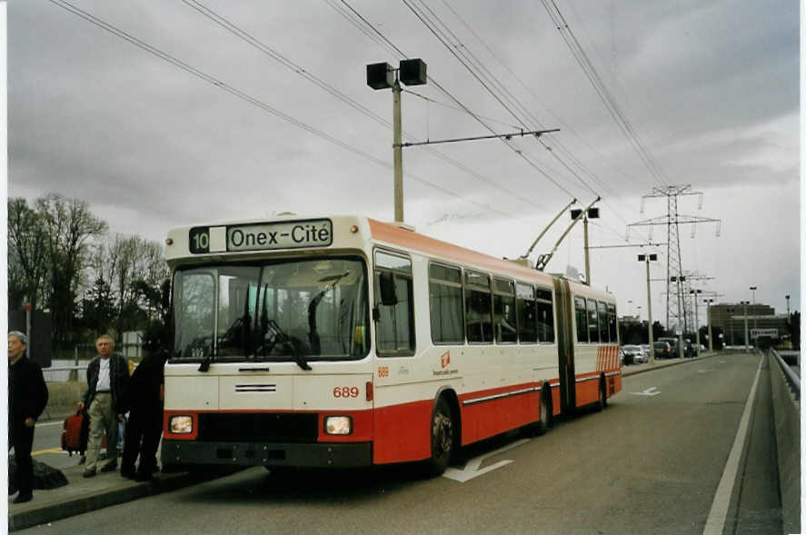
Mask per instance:
[[[333,243],[333,223],[329,219],[314,219],[194,227],[188,238],[190,252],[194,254],[326,247]]]

